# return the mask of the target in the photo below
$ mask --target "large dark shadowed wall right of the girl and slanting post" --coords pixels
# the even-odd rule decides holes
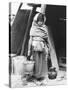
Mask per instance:
[[[66,6],[47,5],[46,17],[57,56],[66,57]]]

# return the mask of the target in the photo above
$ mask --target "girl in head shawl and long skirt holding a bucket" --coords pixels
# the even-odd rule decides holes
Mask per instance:
[[[37,13],[30,29],[28,56],[31,50],[35,61],[33,76],[37,80],[43,80],[47,76],[47,58],[49,53],[48,30],[45,25],[45,15]],[[32,48],[31,48],[32,47]]]

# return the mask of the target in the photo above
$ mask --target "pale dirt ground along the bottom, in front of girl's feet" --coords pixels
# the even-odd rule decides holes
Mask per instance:
[[[46,79],[38,82],[27,82],[25,78],[21,78],[21,75],[11,75],[11,87],[22,88],[22,87],[34,87],[34,86],[49,86],[49,85],[66,85],[66,72],[59,71],[56,79]]]

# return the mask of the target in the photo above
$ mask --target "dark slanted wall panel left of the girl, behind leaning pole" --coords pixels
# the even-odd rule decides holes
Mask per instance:
[[[27,27],[29,10],[19,10],[11,28],[11,53],[19,54]]]

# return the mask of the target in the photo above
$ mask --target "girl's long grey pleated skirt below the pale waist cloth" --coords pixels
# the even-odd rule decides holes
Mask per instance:
[[[48,67],[45,52],[33,51],[33,60],[35,61],[34,76],[36,78],[46,77]]]

